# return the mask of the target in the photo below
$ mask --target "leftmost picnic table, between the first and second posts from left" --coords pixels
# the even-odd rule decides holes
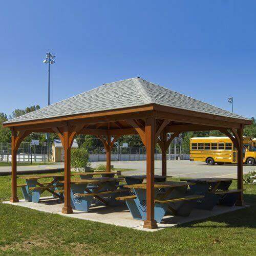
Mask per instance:
[[[49,191],[54,198],[63,198],[63,184],[60,181],[64,180],[64,175],[40,175],[40,176],[21,176],[21,179],[25,179],[26,184],[17,185],[22,189],[25,200],[29,202],[38,203],[40,195],[44,191]],[[39,182],[38,180],[44,178],[52,178],[49,182]]]

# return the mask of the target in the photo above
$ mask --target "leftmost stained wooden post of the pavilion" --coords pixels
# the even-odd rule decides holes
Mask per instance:
[[[12,131],[12,194],[10,202],[17,203],[17,148],[15,146],[15,140],[17,138],[17,132]]]

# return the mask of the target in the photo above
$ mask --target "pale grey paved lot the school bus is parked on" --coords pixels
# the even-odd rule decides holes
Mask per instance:
[[[96,167],[98,164],[105,164],[105,162],[92,163],[92,167]],[[131,168],[136,169],[129,172],[123,172],[123,174],[145,174],[146,173],[146,161],[113,161],[112,164],[115,168]],[[244,173],[248,173],[252,169],[256,169],[256,166],[244,165]],[[155,174],[161,174],[161,161],[155,161]],[[237,165],[206,165],[204,162],[190,162],[189,160],[171,160],[167,161],[167,175],[173,177],[193,177],[193,178],[208,178],[208,177],[223,177],[223,178],[236,178],[237,177]]]

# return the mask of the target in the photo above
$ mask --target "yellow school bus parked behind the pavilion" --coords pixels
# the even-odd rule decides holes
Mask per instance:
[[[243,159],[248,165],[256,163],[256,147],[250,137],[243,137]],[[191,138],[190,161],[203,161],[208,165],[237,163],[237,150],[228,137]]]

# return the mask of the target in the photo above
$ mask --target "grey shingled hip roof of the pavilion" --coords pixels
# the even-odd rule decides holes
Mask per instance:
[[[151,103],[211,115],[247,119],[136,77],[105,83],[98,88],[11,119],[5,123],[124,109]]]

